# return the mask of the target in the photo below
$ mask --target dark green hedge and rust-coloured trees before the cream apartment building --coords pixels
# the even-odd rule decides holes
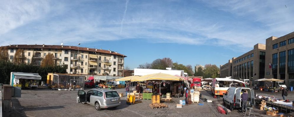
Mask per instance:
[[[11,62],[9,60],[8,49],[0,47],[0,83],[9,84],[10,72],[38,73],[42,77],[41,81],[45,82],[48,73],[67,73],[67,67],[65,65],[57,65],[56,62],[54,62],[53,54],[48,54],[43,59],[41,66],[37,66],[35,65],[34,59],[32,59],[32,62],[26,63],[26,57],[23,53],[24,50],[16,50]],[[34,55],[32,58],[34,58]]]

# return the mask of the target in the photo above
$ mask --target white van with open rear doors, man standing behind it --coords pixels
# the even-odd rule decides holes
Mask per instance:
[[[247,107],[255,105],[255,91],[245,87],[230,87],[226,93],[223,93],[224,105],[229,105],[230,110],[234,110],[234,108],[241,108],[241,95],[244,90],[246,90],[248,94],[249,101],[247,101]]]

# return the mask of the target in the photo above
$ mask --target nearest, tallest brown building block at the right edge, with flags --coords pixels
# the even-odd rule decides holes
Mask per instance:
[[[285,80],[294,85],[294,32],[266,39],[265,78]]]

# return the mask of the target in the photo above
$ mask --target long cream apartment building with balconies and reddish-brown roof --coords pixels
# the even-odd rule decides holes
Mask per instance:
[[[62,45],[9,45],[9,59],[12,61],[17,49],[24,50],[26,63],[41,65],[49,53],[54,55],[57,65],[67,66],[69,74],[123,75],[124,58],[127,57],[111,50]]]

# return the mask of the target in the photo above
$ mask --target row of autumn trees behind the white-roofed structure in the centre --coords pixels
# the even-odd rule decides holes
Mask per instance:
[[[219,67],[217,65],[206,64],[203,67],[200,65],[183,65],[178,62],[173,62],[171,58],[156,59],[151,63],[144,63],[138,66],[141,69],[159,69],[166,70],[166,67],[171,67],[176,70],[184,70],[189,76],[203,76],[203,78],[219,78]]]

